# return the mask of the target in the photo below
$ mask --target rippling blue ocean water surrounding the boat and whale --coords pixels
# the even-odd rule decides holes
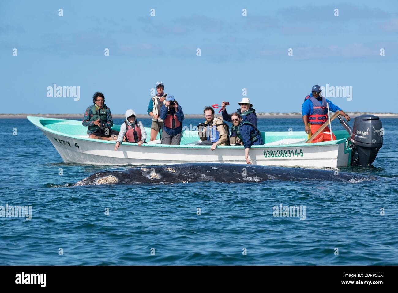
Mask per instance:
[[[27,119],[1,122],[0,206],[31,206],[31,220],[0,217],[0,265],[398,264],[398,119],[382,119],[373,166],[341,169],[380,181],[82,187],[62,186],[129,167],[63,163]],[[300,119],[258,126],[303,130]],[[305,220],[273,216],[280,204],[306,206]]]

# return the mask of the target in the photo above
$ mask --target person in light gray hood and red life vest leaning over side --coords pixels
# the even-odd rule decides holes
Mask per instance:
[[[138,146],[146,140],[146,132],[141,121],[136,121],[135,112],[131,109],[126,111],[126,121],[120,126],[119,136],[116,140],[115,151],[123,141],[137,142]]]

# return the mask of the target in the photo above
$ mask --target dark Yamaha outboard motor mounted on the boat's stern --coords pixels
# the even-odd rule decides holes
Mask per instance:
[[[375,161],[378,150],[383,145],[384,129],[375,115],[365,114],[354,119],[351,128],[338,116],[340,123],[350,135],[353,145],[351,165],[368,166]]]

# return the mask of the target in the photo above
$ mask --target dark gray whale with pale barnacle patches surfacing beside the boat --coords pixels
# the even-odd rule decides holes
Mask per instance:
[[[215,181],[221,183],[264,182],[268,180],[326,180],[358,183],[380,177],[319,169],[226,163],[185,163],[133,167],[127,171],[100,171],[72,186],[100,184],[188,183]]]

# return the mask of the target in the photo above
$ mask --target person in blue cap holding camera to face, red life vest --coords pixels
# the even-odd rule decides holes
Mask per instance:
[[[160,107],[160,119],[163,119],[162,144],[180,144],[184,113],[174,96],[166,96],[164,106]]]

